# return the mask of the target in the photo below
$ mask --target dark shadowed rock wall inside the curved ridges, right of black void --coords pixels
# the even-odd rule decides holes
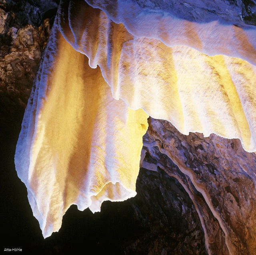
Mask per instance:
[[[147,155],[146,160],[154,162],[154,157]],[[126,241],[126,254],[206,254],[196,207],[179,181],[170,177],[178,168],[170,163],[168,169],[167,174],[160,168],[140,169],[137,195],[127,201],[134,208],[140,235]]]

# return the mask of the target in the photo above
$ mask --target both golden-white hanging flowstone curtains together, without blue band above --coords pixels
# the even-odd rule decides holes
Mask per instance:
[[[157,14],[150,36],[135,36],[127,19],[117,24],[86,2],[61,1],[15,155],[44,237],[60,229],[72,204],[95,212],[105,200],[136,195],[148,116],[168,120],[184,134],[239,138],[244,149],[256,151],[255,51],[250,56],[240,45],[255,32],[232,28],[234,56],[246,62],[232,57],[216,22],[207,26],[218,31],[219,45],[212,47],[220,52],[208,56],[210,38],[202,36],[202,26],[194,26],[201,31],[197,41],[192,22],[177,21],[188,45],[176,43],[175,29],[170,45],[171,30],[160,28],[159,20]],[[168,17],[163,24],[168,27]]]

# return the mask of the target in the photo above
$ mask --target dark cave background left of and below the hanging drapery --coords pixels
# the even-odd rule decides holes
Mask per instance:
[[[57,6],[58,0],[0,0],[4,11],[1,15],[8,14],[0,34],[0,66],[4,70],[4,74],[0,73],[1,249],[21,248],[26,254],[67,254],[80,248],[86,253],[90,252],[88,247],[95,254],[206,254],[204,231],[194,203],[177,179],[159,166],[157,172],[140,169],[136,197],[124,202],[105,201],[101,212],[95,214],[89,209],[78,211],[72,205],[63,217],[60,231],[46,239],[42,237],[26,187],[17,176],[14,153]],[[252,11],[255,0],[245,0],[243,6],[244,20],[256,24]],[[10,28],[23,31],[26,40],[17,41]],[[33,44],[28,43],[31,38]],[[34,57],[26,56],[27,51]],[[144,161],[158,163],[149,152]],[[164,155],[161,161],[170,171],[179,171]],[[203,200],[199,193],[196,196]],[[213,254],[222,254],[218,245]]]

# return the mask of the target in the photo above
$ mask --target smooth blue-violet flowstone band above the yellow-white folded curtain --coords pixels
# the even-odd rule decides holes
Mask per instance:
[[[84,6],[84,1],[61,2],[70,2],[69,22],[72,28],[76,24],[74,21],[80,18],[80,15],[72,15],[74,8],[77,3]],[[241,18],[238,18],[234,6],[229,6],[230,10],[225,10],[231,15],[219,14],[220,8],[228,7],[223,2],[216,4],[211,1],[206,3],[204,0],[196,1],[196,3],[188,1],[192,6],[194,5],[195,9],[198,6],[201,7],[200,13],[196,15],[194,12],[193,18],[191,18],[191,13],[186,13],[190,4],[183,1],[180,1],[184,5],[182,12],[177,8],[176,2],[173,4],[174,1],[168,1],[169,8],[154,8],[154,4],[149,4],[151,1],[145,4],[138,1],[140,5],[132,0],[87,0],[86,2],[94,8],[103,10],[115,23],[124,24],[133,36],[156,38],[169,47],[190,46],[209,56],[225,54],[256,63],[254,27],[244,24]],[[210,12],[206,12],[205,8]],[[74,34],[78,31],[72,30]]]

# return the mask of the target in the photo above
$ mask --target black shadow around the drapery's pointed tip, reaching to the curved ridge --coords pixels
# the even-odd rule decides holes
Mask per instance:
[[[72,254],[81,247],[85,252],[93,247],[95,254],[184,254],[189,249],[205,254],[204,233],[190,197],[162,169],[140,169],[136,197],[106,201],[100,213],[72,205],[60,231],[44,239],[14,165],[24,109],[7,104],[0,109],[1,249],[18,247],[26,254]]]

